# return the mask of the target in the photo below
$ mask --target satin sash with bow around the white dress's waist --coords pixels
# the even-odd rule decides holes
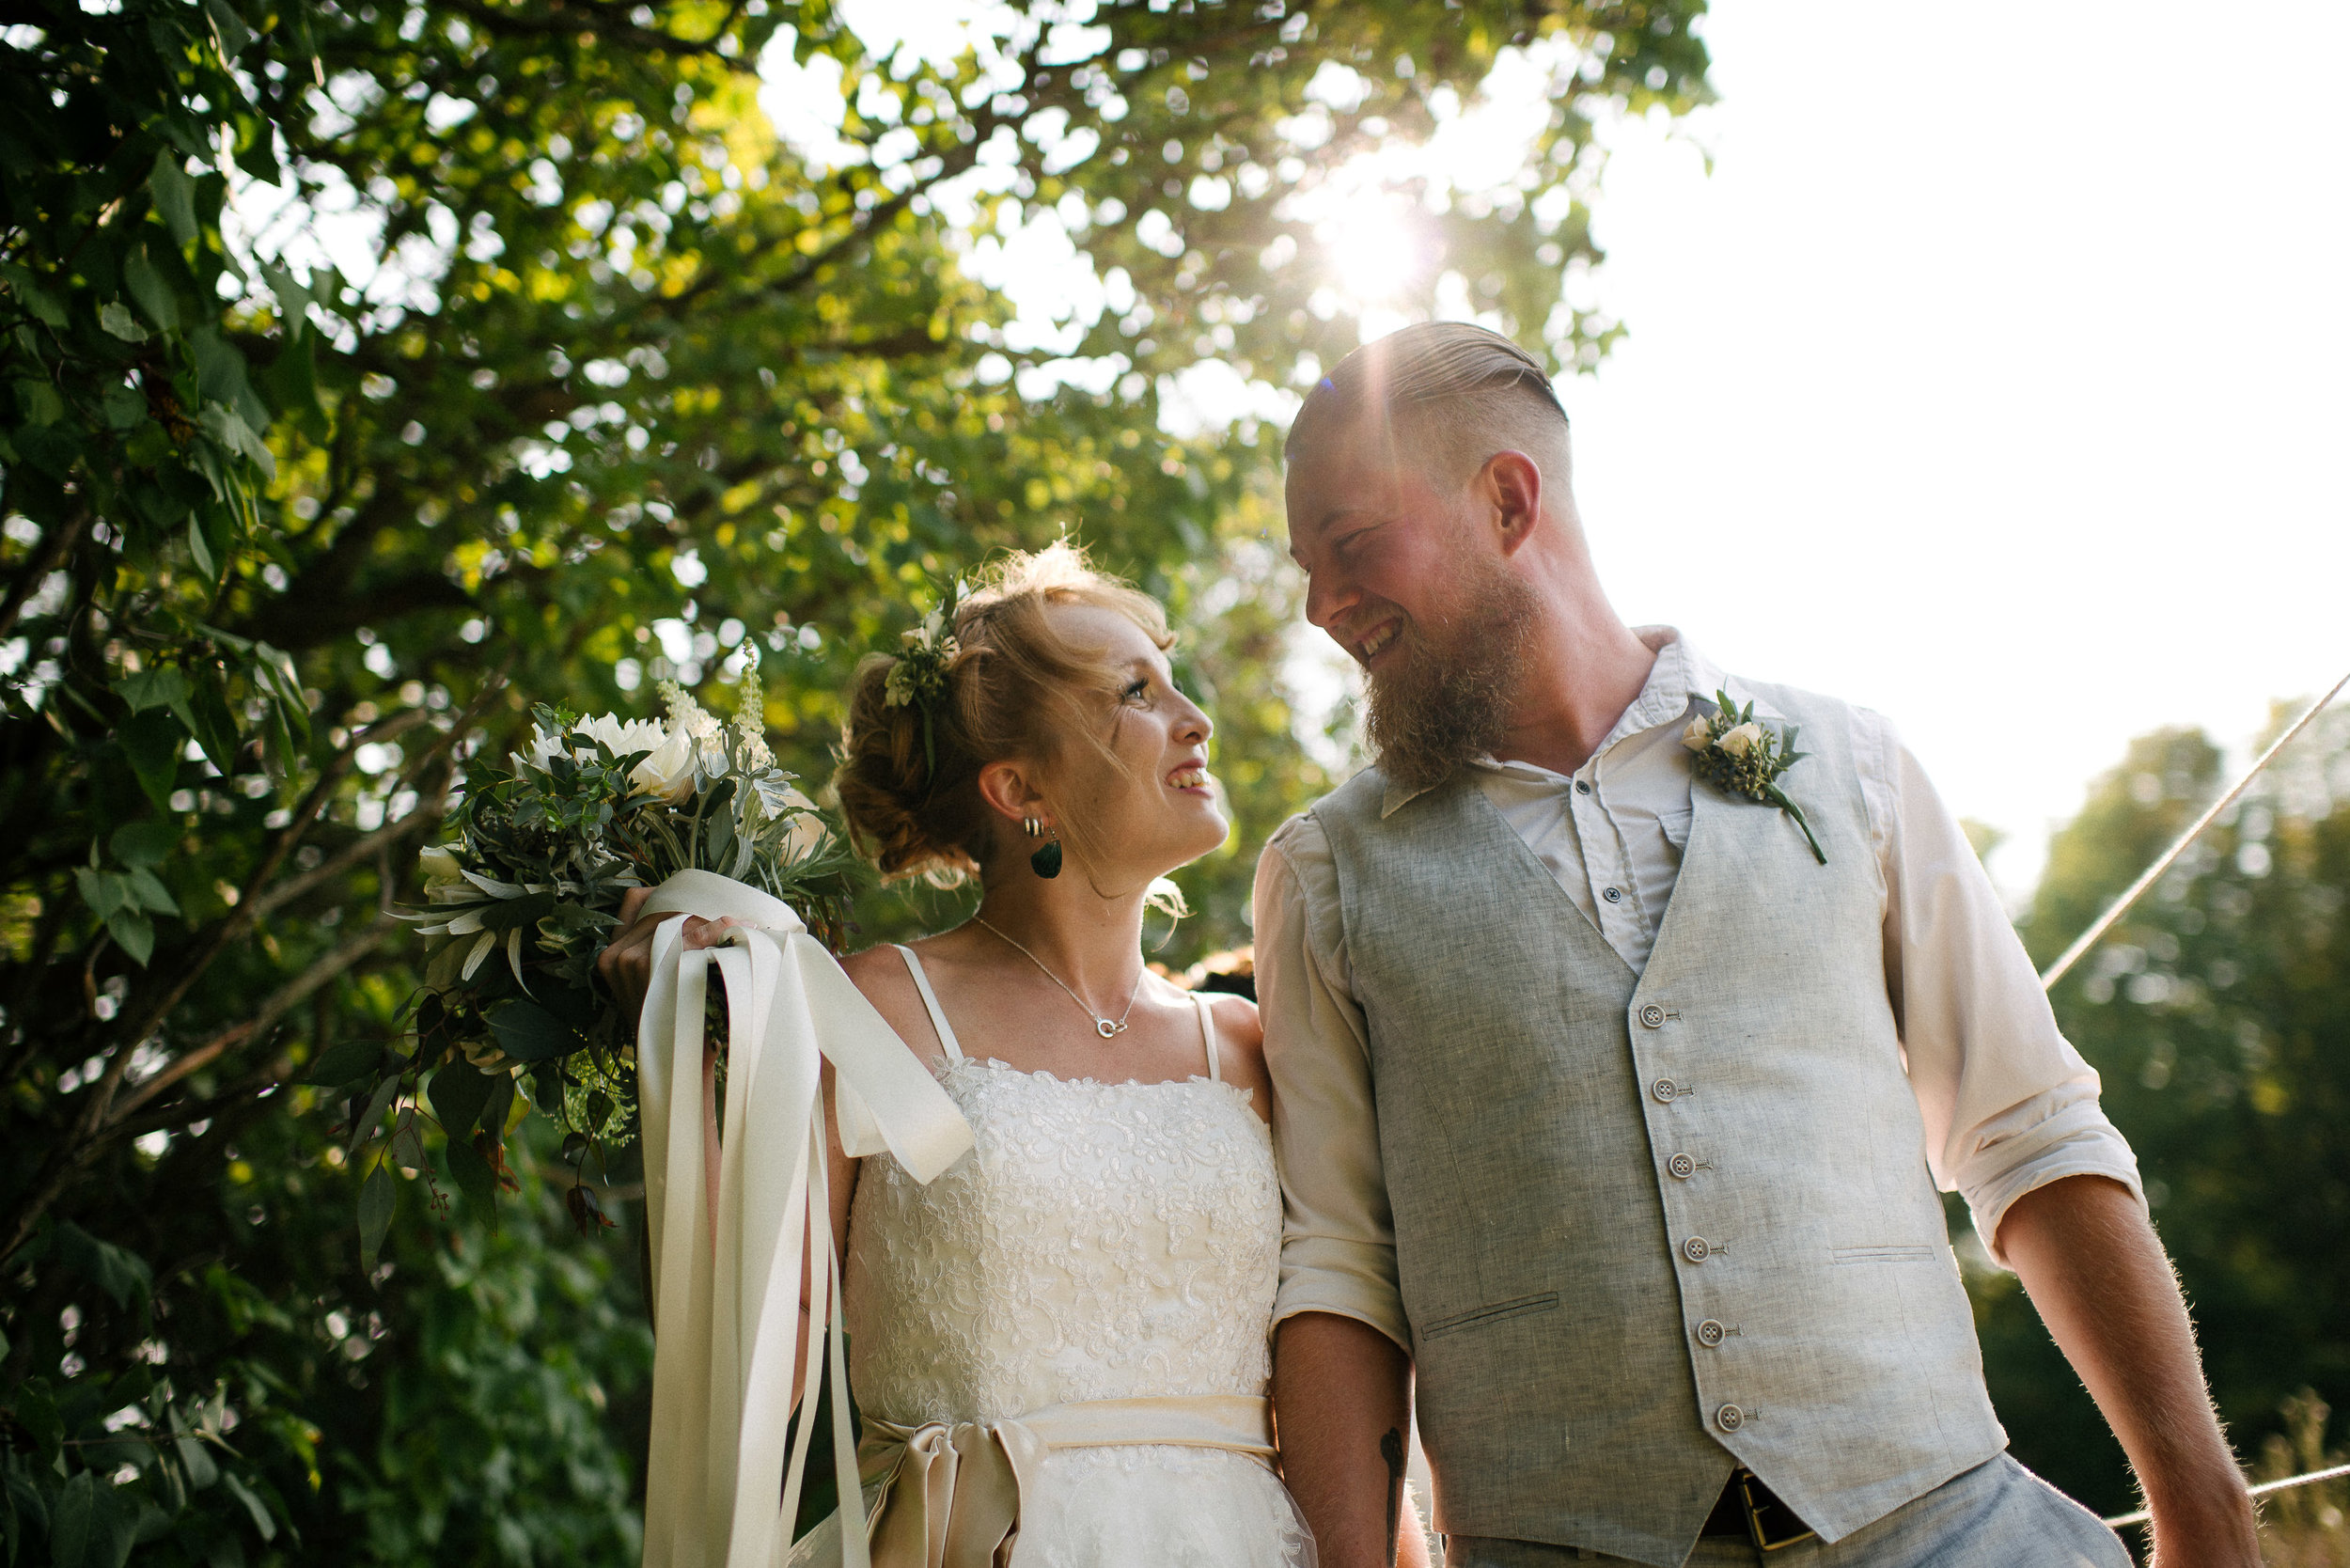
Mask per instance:
[[[1090,1399],[999,1422],[898,1427],[867,1420],[860,1472],[867,1486],[881,1481],[867,1526],[872,1568],[996,1568],[999,1561],[1018,1568],[1020,1497],[1043,1455],[1142,1443],[1271,1460],[1271,1401],[1248,1394]]]

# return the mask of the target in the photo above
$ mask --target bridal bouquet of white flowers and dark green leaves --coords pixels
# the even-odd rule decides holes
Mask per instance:
[[[397,1098],[397,1164],[423,1166],[421,1147],[414,1157],[402,1147],[416,1147],[411,1126],[428,1100],[449,1140],[451,1178],[491,1199],[505,1175],[505,1124],[529,1079],[529,1103],[569,1133],[566,1161],[592,1159],[609,1178],[639,1135],[634,1020],[613,1006],[595,961],[630,889],[682,870],[717,872],[783,898],[837,945],[853,860],[768,752],[757,658],[733,722],[674,682],[660,696],[663,719],[536,708],[529,750],[477,766],[451,816],[456,839],[423,851],[430,907],[407,919],[437,950],[416,1006],[416,1051],[385,1063],[360,1121],[362,1135],[374,1131]],[[385,1093],[400,1081],[407,1095]],[[385,1187],[385,1218],[388,1199]],[[569,1201],[583,1227],[599,1220],[590,1190],[573,1187]],[[362,1194],[362,1234],[374,1229],[369,1218]]]

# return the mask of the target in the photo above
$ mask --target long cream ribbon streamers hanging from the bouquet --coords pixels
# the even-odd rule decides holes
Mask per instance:
[[[928,1182],[964,1157],[971,1126],[780,898],[717,872],[677,872],[653,889],[644,912],[740,922],[707,950],[686,950],[684,919],[663,922],[637,1025],[656,1328],[644,1568],[766,1568],[790,1544],[780,1537],[815,1439],[818,1373],[832,1385],[834,1474],[858,1474],[832,1262],[822,1060],[834,1070],[841,1147],[851,1157],[888,1152]],[[726,985],[728,1030],[714,1194],[703,1147],[712,964]],[[804,1248],[820,1265],[808,1274],[806,1340]],[[792,1434],[797,1363],[811,1371],[811,1396]],[[841,1563],[867,1568],[860,1533],[844,1533]]]

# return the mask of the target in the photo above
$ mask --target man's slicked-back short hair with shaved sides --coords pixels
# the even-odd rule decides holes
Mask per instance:
[[[1307,395],[1283,458],[1363,418],[1422,468],[1466,482],[1497,451],[1567,477],[1567,411],[1535,355],[1469,322],[1419,322],[1363,343]]]

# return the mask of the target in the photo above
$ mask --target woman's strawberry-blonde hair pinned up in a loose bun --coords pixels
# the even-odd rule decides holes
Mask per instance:
[[[1095,604],[1133,621],[1161,649],[1175,642],[1149,595],[1095,571],[1079,545],[1062,541],[1015,550],[980,571],[938,632],[954,639],[942,691],[891,703],[898,656],[867,654],[858,663],[832,788],[858,853],[884,877],[954,886],[978,875],[992,835],[978,778],[989,762],[1029,759],[1050,780],[1079,748],[1116,766],[1102,715],[1116,703],[1121,672],[1104,668],[1102,649],[1065,637],[1048,614],[1053,604]],[[1058,830],[1083,853],[1083,823],[1062,818]]]

